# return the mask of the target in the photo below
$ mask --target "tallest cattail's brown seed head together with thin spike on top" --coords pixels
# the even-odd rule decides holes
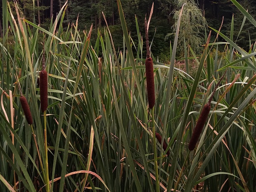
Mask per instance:
[[[149,54],[149,37],[147,32],[146,17],[145,17],[145,33],[146,33],[146,47],[147,47],[147,58],[145,61],[146,81],[147,81],[147,100],[148,100],[149,108],[152,109],[155,105],[155,85],[154,85],[153,60]]]

